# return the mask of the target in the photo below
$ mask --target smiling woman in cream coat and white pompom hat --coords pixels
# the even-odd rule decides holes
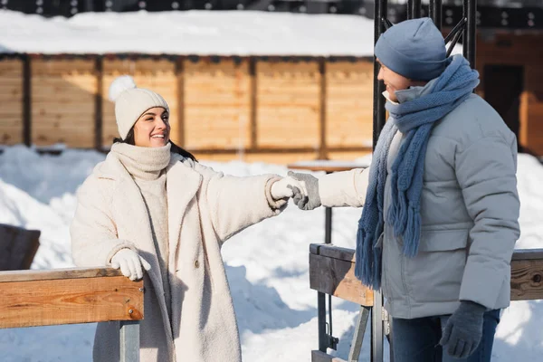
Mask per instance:
[[[73,260],[144,278],[141,361],[240,361],[221,246],[280,214],[300,184],[198,164],[169,140],[167,102],[129,76],[112,83],[110,99],[120,138],[78,191]],[[119,360],[118,323],[99,324],[93,358]]]

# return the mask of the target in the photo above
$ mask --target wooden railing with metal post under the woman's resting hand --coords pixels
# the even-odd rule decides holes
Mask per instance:
[[[119,320],[120,360],[138,362],[143,294],[110,268],[0,271],[0,329]]]

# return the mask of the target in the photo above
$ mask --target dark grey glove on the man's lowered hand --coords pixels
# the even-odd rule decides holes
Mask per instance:
[[[439,344],[447,346],[447,353],[456,358],[472,356],[482,337],[485,307],[470,300],[462,300],[443,329]]]

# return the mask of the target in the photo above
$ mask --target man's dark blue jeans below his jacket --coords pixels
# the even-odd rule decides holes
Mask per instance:
[[[484,313],[482,338],[472,356],[458,359],[443,351],[439,344],[447,316],[417,319],[392,319],[392,349],[394,362],[490,362],[500,310]]]

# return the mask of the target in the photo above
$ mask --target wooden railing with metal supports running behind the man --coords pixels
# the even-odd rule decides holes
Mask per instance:
[[[310,245],[310,288],[360,305],[355,334],[348,360],[358,360],[370,310],[374,307],[373,291],[355,277],[354,250],[330,244]],[[543,249],[522,249],[511,260],[511,300],[543,300]],[[372,314],[373,316],[373,314]],[[386,318],[384,318],[386,321]],[[372,328],[373,330],[373,328]],[[372,342],[380,343],[383,339]],[[372,346],[374,343],[372,343]],[[372,362],[377,361],[373,356]],[[324,351],[313,350],[312,362],[345,362]]]

